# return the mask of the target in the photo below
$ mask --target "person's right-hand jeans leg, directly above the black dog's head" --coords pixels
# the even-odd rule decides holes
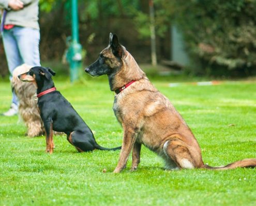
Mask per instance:
[[[39,30],[33,28],[15,27],[14,36],[18,42],[23,63],[32,66],[40,66]]]

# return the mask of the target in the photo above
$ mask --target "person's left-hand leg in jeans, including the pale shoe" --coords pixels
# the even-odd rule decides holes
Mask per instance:
[[[3,43],[5,55],[10,72],[10,80],[12,78],[12,71],[14,68],[22,64],[22,59],[19,53],[16,38],[13,36],[13,29],[3,31]],[[19,100],[14,91],[12,91],[12,104],[10,110],[4,113],[6,116],[12,116],[17,113]]]

